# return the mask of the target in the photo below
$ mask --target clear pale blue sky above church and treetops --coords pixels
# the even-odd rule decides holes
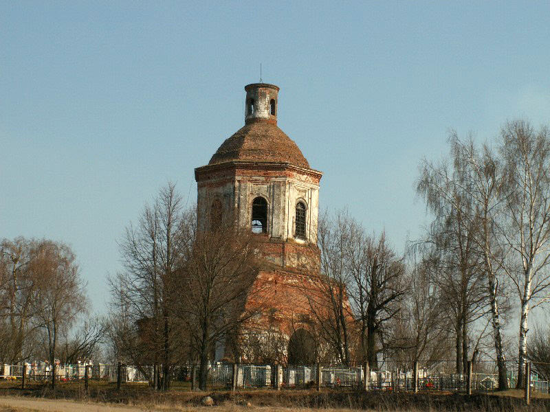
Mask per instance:
[[[244,124],[245,84],[281,87],[278,126],[399,252],[430,216],[423,157],[450,129],[549,123],[548,1],[0,1],[0,238],[76,253],[105,312],[117,241],[168,181]]]

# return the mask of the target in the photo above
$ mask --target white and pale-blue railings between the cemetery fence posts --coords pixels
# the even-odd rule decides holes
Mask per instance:
[[[56,378],[61,381],[84,380],[86,365],[56,365]],[[153,382],[153,367],[133,365],[88,365],[88,378],[103,382]],[[120,368],[120,369],[119,369]],[[197,367],[198,369],[198,367]],[[276,367],[271,365],[240,364],[237,371],[235,387],[268,388],[276,385]],[[281,387],[298,388],[313,387],[318,382],[318,367],[289,366],[283,367]],[[120,372],[119,372],[120,370]],[[188,382],[191,376],[191,365],[176,367],[170,372],[171,382]],[[322,387],[361,387],[364,379],[362,367],[324,366],[321,369],[320,386]],[[120,373],[120,377],[119,377]],[[162,368],[159,368],[162,377]],[[23,376],[23,365],[0,365],[0,378],[19,379]],[[52,368],[47,363],[29,363],[25,367],[25,378],[28,381],[48,380],[52,376]],[[211,387],[231,387],[233,380],[233,365],[212,363],[208,365],[208,385]],[[509,387],[515,385],[515,378],[510,374]],[[419,389],[465,391],[467,376],[463,374],[445,374],[419,371]],[[370,389],[379,390],[412,390],[412,371],[371,371]],[[497,374],[472,374],[472,390],[492,391],[498,387]],[[550,385],[538,374],[531,374],[531,389],[540,393],[549,393]]]

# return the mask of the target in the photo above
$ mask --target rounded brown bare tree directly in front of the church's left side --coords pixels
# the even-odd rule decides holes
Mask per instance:
[[[259,268],[255,242],[253,233],[231,224],[199,231],[184,249],[185,263],[173,273],[171,307],[199,358],[200,389],[206,389],[212,350],[217,344],[237,347],[239,328],[254,314],[245,302],[261,288],[254,284]]]

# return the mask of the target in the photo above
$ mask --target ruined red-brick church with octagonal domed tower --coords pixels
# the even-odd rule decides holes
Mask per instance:
[[[322,173],[309,167],[296,143],[278,128],[279,88],[254,83],[245,91],[245,125],[223,141],[208,165],[195,169],[198,225],[208,229],[212,216],[232,216],[260,242],[263,263],[256,286],[261,284],[261,293],[245,304],[257,314],[246,325],[250,333],[241,338],[239,361],[309,363],[317,349],[307,293],[300,285],[319,270]],[[224,351],[221,347],[216,357],[223,358]]]

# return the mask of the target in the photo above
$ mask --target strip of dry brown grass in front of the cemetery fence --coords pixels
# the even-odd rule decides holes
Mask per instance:
[[[63,383],[55,390],[47,385],[34,385],[24,391],[13,383],[0,385],[0,396],[18,396],[25,400],[80,400],[87,403],[83,411],[99,411],[100,405],[109,409],[104,411],[205,411],[200,407],[203,396],[214,398],[214,411],[377,411],[377,412],[521,412],[550,411],[550,396],[533,393],[531,407],[523,404],[523,393],[511,389],[502,393],[475,393],[466,396],[450,392],[407,393],[386,391],[311,391],[311,390],[257,390],[232,393],[217,391],[191,393],[190,391],[157,392],[140,385],[124,385],[120,391],[112,385],[91,385],[89,395],[84,393],[83,385]],[[91,405],[93,409],[90,409]],[[247,406],[250,404],[251,406]],[[72,404],[77,411],[77,404]],[[11,407],[12,405],[10,405]],[[30,411],[36,408],[33,404],[21,405]],[[8,409],[10,410],[10,409]],[[14,409],[17,411],[18,409]],[[23,409],[24,410],[24,409]],[[39,407],[38,410],[44,410]],[[2,412],[2,409],[0,409]]]

